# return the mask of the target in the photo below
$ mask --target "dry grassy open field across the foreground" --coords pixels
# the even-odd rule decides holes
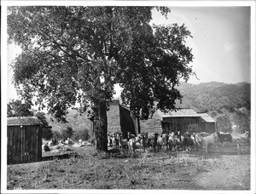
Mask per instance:
[[[202,150],[149,152],[131,157],[96,156],[92,147],[73,151],[84,158],[9,165],[7,189],[250,189],[248,147],[241,155],[236,154],[236,145],[211,148],[208,154]]]

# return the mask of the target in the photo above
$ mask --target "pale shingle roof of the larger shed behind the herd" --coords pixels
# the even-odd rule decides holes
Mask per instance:
[[[163,112],[163,111],[156,111],[160,117],[200,117],[195,111],[192,109],[178,109],[176,111],[169,111],[169,112]]]

